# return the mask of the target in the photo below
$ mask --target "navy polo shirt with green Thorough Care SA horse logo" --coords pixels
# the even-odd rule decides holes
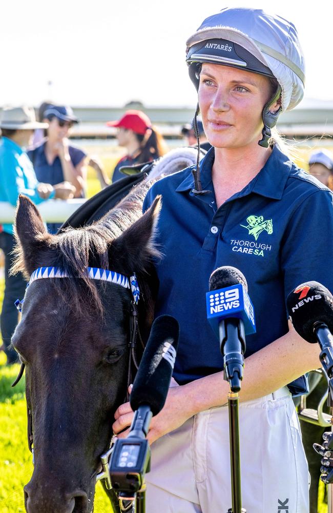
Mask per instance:
[[[213,162],[214,148],[200,166],[209,194],[193,194],[190,167],[155,183],[143,204],[145,210],[162,195],[156,242],[164,256],[156,265],[155,316],[170,314],[179,321],[179,384],[223,369],[205,306],[217,267],[237,267],[247,280],[257,332],[246,337],[245,357],[287,333],[285,300],[296,286],[316,280],[333,291],[331,191],[275,146],[254,179],[217,208]]]

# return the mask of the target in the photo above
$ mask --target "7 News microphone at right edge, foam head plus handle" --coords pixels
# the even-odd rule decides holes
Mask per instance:
[[[320,361],[329,378],[333,369],[333,296],[318,282],[305,282],[287,297],[287,311],[297,333],[319,343]]]

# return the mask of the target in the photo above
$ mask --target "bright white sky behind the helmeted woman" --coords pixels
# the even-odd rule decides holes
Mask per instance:
[[[238,6],[292,21],[305,54],[305,97],[333,101],[330,1],[3,0],[0,106],[192,107],[185,41],[205,17]]]

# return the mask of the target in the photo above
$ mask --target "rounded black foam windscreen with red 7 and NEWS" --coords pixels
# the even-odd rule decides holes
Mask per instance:
[[[333,297],[318,282],[302,283],[287,297],[288,315],[297,333],[311,344],[317,342],[314,324],[323,322],[333,332]]]

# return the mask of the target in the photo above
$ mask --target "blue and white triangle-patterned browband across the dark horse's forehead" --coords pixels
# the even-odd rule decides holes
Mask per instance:
[[[115,283],[124,288],[130,288],[133,295],[134,303],[137,304],[140,299],[140,289],[138,286],[138,282],[136,279],[136,275],[133,274],[130,278],[120,274],[119,272],[109,271],[108,269],[99,269],[98,267],[87,267],[86,272],[88,278],[91,280],[103,280],[110,283]],[[27,288],[31,283],[36,280],[40,280],[41,278],[74,278],[70,274],[61,271],[58,267],[38,267],[31,274],[30,280],[27,284]],[[24,300],[20,301],[17,299],[15,301],[15,306],[17,310],[22,310]]]

